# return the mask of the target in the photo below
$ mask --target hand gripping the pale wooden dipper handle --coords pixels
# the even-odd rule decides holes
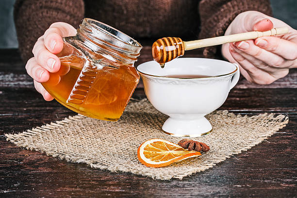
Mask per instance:
[[[264,32],[273,27],[288,27],[289,33],[222,45],[223,56],[237,63],[249,82],[270,84],[297,67],[297,30],[279,19],[247,11],[236,16],[225,32],[225,35]]]

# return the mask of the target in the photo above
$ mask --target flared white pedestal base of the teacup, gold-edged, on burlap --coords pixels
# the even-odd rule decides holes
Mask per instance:
[[[210,122],[203,116],[198,119],[174,119],[169,117],[163,124],[165,134],[174,137],[200,137],[213,131]]]

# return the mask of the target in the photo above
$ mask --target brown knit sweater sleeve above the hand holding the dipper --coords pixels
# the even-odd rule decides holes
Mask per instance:
[[[198,10],[200,39],[224,35],[232,20],[242,12],[254,10],[272,16],[269,0],[200,0]],[[207,58],[221,57],[220,47],[206,47],[203,55]]]

